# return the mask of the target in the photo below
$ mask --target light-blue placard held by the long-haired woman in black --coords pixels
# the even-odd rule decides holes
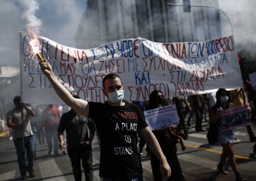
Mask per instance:
[[[145,119],[151,131],[161,127],[179,124],[178,113],[175,105],[144,111]]]

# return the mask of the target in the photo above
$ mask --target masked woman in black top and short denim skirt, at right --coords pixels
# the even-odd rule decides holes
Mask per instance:
[[[233,152],[233,143],[235,142],[235,130],[229,129],[226,131],[222,131],[220,127],[220,111],[217,111],[219,107],[222,109],[228,109],[234,107],[234,104],[229,102],[228,91],[226,89],[220,88],[216,92],[217,102],[212,106],[212,124],[218,124],[218,141],[221,144],[223,150],[220,155],[220,162],[218,164],[218,170],[222,174],[228,174],[226,170],[223,168],[223,164],[228,158],[228,162],[232,170],[236,175],[236,181],[245,181],[246,178],[242,178],[240,173],[238,172],[238,168],[236,165],[236,160]]]

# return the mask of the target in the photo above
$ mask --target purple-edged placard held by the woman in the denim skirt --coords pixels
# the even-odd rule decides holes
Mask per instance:
[[[243,105],[220,110],[220,124],[223,131],[250,125],[251,119],[248,113],[248,106]]]

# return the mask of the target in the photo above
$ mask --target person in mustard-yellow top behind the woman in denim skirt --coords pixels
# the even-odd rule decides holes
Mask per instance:
[[[230,93],[230,99],[232,103],[235,105],[235,107],[247,105],[244,88],[232,90],[232,91],[229,91],[229,93]],[[246,126],[246,129],[249,134],[250,141],[251,142],[256,141],[256,136],[254,134],[252,124]]]

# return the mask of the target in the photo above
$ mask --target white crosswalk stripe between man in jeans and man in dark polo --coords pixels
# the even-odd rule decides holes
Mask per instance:
[[[40,162],[39,168],[44,181],[66,181],[54,159]]]

